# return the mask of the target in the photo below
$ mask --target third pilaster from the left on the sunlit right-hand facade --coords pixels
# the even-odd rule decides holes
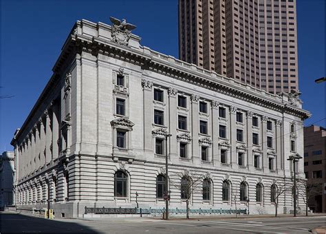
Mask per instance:
[[[193,138],[193,163],[200,164],[199,156],[199,96],[197,94],[191,95],[191,132]]]

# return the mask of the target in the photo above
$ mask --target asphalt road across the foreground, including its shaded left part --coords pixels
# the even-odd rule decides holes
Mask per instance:
[[[309,233],[326,226],[326,216],[250,219],[155,220],[148,218],[107,220],[45,220],[0,213],[1,233]]]

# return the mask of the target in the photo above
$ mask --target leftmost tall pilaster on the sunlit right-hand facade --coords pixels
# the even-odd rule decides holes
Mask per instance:
[[[144,105],[144,151],[153,151],[153,82],[142,79]]]

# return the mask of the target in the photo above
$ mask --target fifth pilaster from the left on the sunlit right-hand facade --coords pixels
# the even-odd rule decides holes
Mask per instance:
[[[237,164],[237,107],[230,107],[230,159],[233,169],[238,168]]]

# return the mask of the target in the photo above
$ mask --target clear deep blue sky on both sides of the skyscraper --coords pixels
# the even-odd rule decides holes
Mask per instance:
[[[325,118],[325,1],[297,0],[299,89],[310,125]],[[177,0],[1,0],[0,152],[21,127],[45,84],[74,22],[110,23],[125,18],[137,25],[142,45],[178,57]],[[326,126],[326,121],[316,123]]]

